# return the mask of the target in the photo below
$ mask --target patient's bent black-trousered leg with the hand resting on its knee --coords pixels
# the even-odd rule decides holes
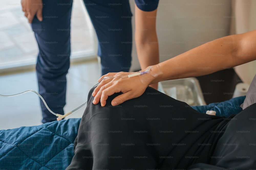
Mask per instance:
[[[185,169],[210,163],[228,122],[150,87],[115,107],[111,101],[120,93],[101,107],[92,104],[92,91],[67,169]]]

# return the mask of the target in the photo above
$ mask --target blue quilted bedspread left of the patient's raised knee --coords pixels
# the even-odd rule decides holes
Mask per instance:
[[[65,169],[81,119],[0,130],[0,169]]]

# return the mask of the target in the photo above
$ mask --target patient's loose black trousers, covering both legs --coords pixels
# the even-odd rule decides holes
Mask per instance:
[[[153,88],[119,106],[83,114],[67,169],[249,169],[255,165],[256,105],[228,118],[197,112]]]

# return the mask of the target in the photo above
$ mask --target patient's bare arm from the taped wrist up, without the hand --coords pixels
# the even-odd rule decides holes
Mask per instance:
[[[162,74],[152,83],[210,74],[255,60],[256,31],[208,42],[159,63]]]

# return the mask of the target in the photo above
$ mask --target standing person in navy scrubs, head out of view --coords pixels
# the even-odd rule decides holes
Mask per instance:
[[[98,37],[102,75],[128,72],[131,67],[132,13],[128,0],[83,0]],[[70,65],[70,18],[72,0],[22,0],[39,48],[36,73],[39,94],[49,108],[64,114]],[[156,35],[158,0],[135,0],[135,42],[141,69],[159,62]],[[157,88],[157,84],[151,85]],[[41,102],[42,123],[56,120]]]

